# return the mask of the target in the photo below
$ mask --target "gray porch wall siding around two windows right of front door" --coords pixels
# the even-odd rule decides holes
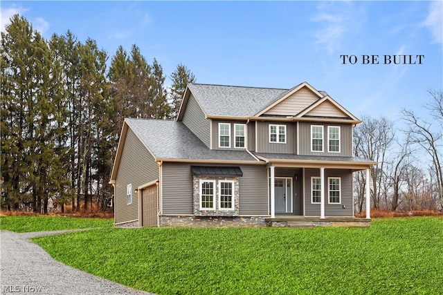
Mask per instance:
[[[320,169],[305,169],[305,216],[320,216],[320,204],[311,202],[311,177],[320,177]],[[341,178],[341,204],[329,204],[328,177]],[[350,169],[325,169],[325,216],[352,217],[354,205],[352,199],[352,171]],[[345,208],[343,208],[345,205]]]

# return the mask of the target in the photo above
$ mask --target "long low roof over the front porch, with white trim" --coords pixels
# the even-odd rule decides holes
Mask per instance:
[[[377,162],[359,157],[296,155],[292,153],[254,153],[254,155],[272,166],[281,167],[363,170],[377,164]]]

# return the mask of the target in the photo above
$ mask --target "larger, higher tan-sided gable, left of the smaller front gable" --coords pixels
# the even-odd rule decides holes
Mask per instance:
[[[270,108],[263,115],[295,116],[311,104],[314,104],[319,98],[307,86],[304,86]]]

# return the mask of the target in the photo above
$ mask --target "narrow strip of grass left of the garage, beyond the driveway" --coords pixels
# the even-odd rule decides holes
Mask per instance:
[[[111,227],[113,219],[65,216],[0,216],[0,229],[17,233]]]

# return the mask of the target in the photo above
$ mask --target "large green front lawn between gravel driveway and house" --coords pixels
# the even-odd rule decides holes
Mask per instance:
[[[156,294],[441,294],[443,285],[442,217],[370,228],[109,228],[34,241]]]

